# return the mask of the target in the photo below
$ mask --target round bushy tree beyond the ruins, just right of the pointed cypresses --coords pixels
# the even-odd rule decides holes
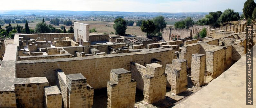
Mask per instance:
[[[35,26],[35,31],[38,33],[51,33],[50,27],[44,23],[44,22],[39,22]]]

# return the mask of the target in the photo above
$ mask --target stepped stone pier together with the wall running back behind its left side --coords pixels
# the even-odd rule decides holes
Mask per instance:
[[[57,72],[57,85],[61,90],[65,108],[91,108],[94,88],[86,83],[81,74],[65,75],[60,69]]]

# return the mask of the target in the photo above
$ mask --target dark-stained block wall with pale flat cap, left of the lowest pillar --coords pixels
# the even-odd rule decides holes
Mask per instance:
[[[41,81],[40,79],[43,79]],[[24,82],[32,81],[32,82]],[[49,86],[45,77],[20,78],[15,84],[17,107],[22,108],[44,108],[44,87]]]

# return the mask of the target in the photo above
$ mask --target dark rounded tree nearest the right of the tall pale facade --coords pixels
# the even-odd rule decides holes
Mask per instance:
[[[118,18],[114,20],[114,23],[115,34],[124,35],[127,29],[126,21],[122,18]]]

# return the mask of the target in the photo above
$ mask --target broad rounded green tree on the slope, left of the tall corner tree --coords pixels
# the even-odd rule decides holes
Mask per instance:
[[[233,9],[226,9],[220,16],[220,22],[224,24],[228,21],[238,21],[240,19],[239,13],[235,12]]]

